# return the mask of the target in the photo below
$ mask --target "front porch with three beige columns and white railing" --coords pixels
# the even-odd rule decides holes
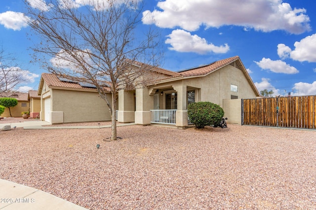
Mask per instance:
[[[135,91],[118,92],[118,122],[165,124],[186,127],[190,124],[187,106],[198,101],[200,90],[182,83]]]

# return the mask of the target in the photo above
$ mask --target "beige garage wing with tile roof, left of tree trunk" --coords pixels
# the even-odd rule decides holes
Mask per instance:
[[[111,120],[107,104],[89,84],[43,73],[38,92],[41,120],[51,123]]]

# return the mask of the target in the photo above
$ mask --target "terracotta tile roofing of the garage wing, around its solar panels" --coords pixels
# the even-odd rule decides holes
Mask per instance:
[[[46,82],[47,86],[49,88],[63,88],[63,89],[78,89],[78,90],[96,90],[95,88],[88,88],[83,87],[79,85],[77,82],[64,82],[58,79],[57,75],[55,74],[49,74],[49,73],[43,73],[42,78]],[[107,91],[110,91],[110,88],[105,88]]]

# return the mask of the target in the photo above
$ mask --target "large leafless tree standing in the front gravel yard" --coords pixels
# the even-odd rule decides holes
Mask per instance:
[[[138,28],[143,5],[137,0],[89,0],[84,5],[73,0],[25,2],[28,24],[42,38],[35,55],[48,56],[49,60],[41,59],[43,67],[57,76],[96,87],[109,107],[111,139],[116,140],[118,90],[140,85],[140,78],[157,66],[159,58],[158,33]],[[136,60],[145,65],[135,68]]]

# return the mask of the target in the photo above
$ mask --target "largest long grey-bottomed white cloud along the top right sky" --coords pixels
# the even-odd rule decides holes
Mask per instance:
[[[303,33],[310,30],[310,19],[304,8],[292,9],[282,0],[165,0],[160,8],[143,12],[144,24],[161,28],[181,27],[194,31],[200,26],[241,26],[244,30],[286,30]]]

